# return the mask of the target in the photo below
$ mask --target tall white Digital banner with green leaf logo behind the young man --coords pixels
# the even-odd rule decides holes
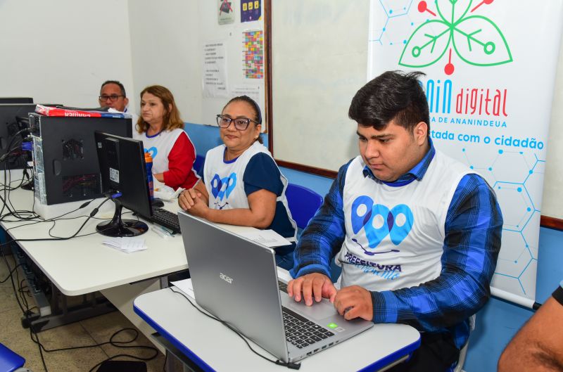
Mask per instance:
[[[502,209],[493,290],[526,304],[536,295],[562,2],[371,0],[370,6],[368,79],[386,70],[426,73],[434,145],[481,174]]]

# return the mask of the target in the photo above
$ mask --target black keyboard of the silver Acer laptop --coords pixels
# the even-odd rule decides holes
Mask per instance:
[[[281,310],[284,314],[286,340],[299,349],[334,336],[334,333],[328,329],[322,328],[317,323],[304,318],[286,307],[282,307]]]

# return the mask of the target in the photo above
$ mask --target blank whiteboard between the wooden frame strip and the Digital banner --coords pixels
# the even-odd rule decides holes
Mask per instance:
[[[366,82],[368,15],[368,0],[272,1],[274,158],[338,170],[358,155],[348,107]]]

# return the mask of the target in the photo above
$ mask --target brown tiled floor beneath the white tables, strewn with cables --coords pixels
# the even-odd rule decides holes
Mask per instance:
[[[11,267],[13,259],[6,256]],[[8,269],[4,259],[0,256],[0,280],[8,276]],[[17,285],[17,283],[16,283]],[[25,286],[25,281],[23,283]],[[28,297],[30,307],[33,300]],[[0,342],[14,352],[26,359],[25,367],[33,372],[44,371],[39,348],[30,339],[29,329],[21,326],[22,312],[15,300],[10,279],[0,283]],[[68,324],[57,328],[52,328],[40,332],[39,340],[46,349],[58,349],[62,347],[76,347],[82,345],[94,345],[96,343],[108,342],[111,335],[122,328],[134,328],[131,322],[120,312],[111,312],[101,316],[96,316],[84,321]],[[132,339],[132,332],[120,333],[115,340],[125,341]],[[153,346],[147,338],[139,332],[136,341],[126,344]],[[89,347],[86,349],[65,350],[60,352],[43,352],[46,366],[49,372],[88,372],[96,364],[108,357],[117,354],[132,354],[137,357],[148,357],[154,354],[148,349],[122,349],[113,345],[102,345],[99,347]],[[118,358],[118,360],[133,360],[128,358]],[[158,352],[156,359],[147,362],[147,371],[163,371],[164,356]],[[97,368],[94,369],[96,371]]]

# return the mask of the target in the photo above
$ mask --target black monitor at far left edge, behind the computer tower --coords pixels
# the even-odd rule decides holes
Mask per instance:
[[[27,152],[21,149],[23,133],[18,134],[22,129],[18,117],[27,117],[27,113],[34,111],[35,105],[32,103],[0,103],[0,157],[11,152],[6,158],[8,169],[22,169],[27,166]]]

